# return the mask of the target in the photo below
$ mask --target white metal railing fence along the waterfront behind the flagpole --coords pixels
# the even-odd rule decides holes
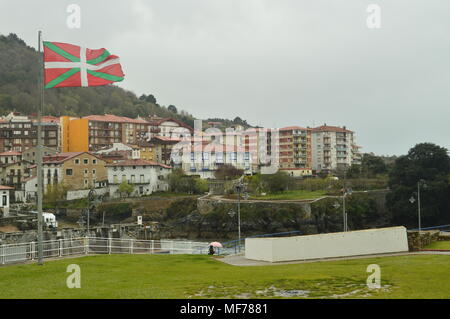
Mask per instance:
[[[80,237],[43,242],[44,258],[88,254],[207,254],[208,243]],[[38,258],[37,242],[0,245],[0,265]]]

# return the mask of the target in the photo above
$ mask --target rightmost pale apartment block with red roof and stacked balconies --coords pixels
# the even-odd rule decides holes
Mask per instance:
[[[322,125],[312,129],[312,168],[316,171],[346,169],[358,163],[355,133],[345,126]]]

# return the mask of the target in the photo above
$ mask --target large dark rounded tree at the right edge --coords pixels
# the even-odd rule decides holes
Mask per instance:
[[[417,227],[417,183],[421,187],[422,225],[437,225],[450,220],[450,157],[447,149],[432,143],[421,143],[400,156],[389,173],[391,192],[387,196],[387,208],[392,222]],[[415,198],[415,203],[409,199]]]

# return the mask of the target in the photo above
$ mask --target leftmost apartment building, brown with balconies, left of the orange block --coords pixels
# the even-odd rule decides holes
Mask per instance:
[[[53,117],[42,118],[42,143],[46,147],[59,145],[59,125]],[[23,152],[37,145],[37,120],[18,112],[0,119],[0,152]]]

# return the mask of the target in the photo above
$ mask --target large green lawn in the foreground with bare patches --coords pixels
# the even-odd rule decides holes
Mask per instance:
[[[69,289],[69,264],[81,288]],[[366,286],[369,264],[381,289]],[[0,298],[450,298],[450,256],[236,267],[199,255],[105,255],[0,267]]]

